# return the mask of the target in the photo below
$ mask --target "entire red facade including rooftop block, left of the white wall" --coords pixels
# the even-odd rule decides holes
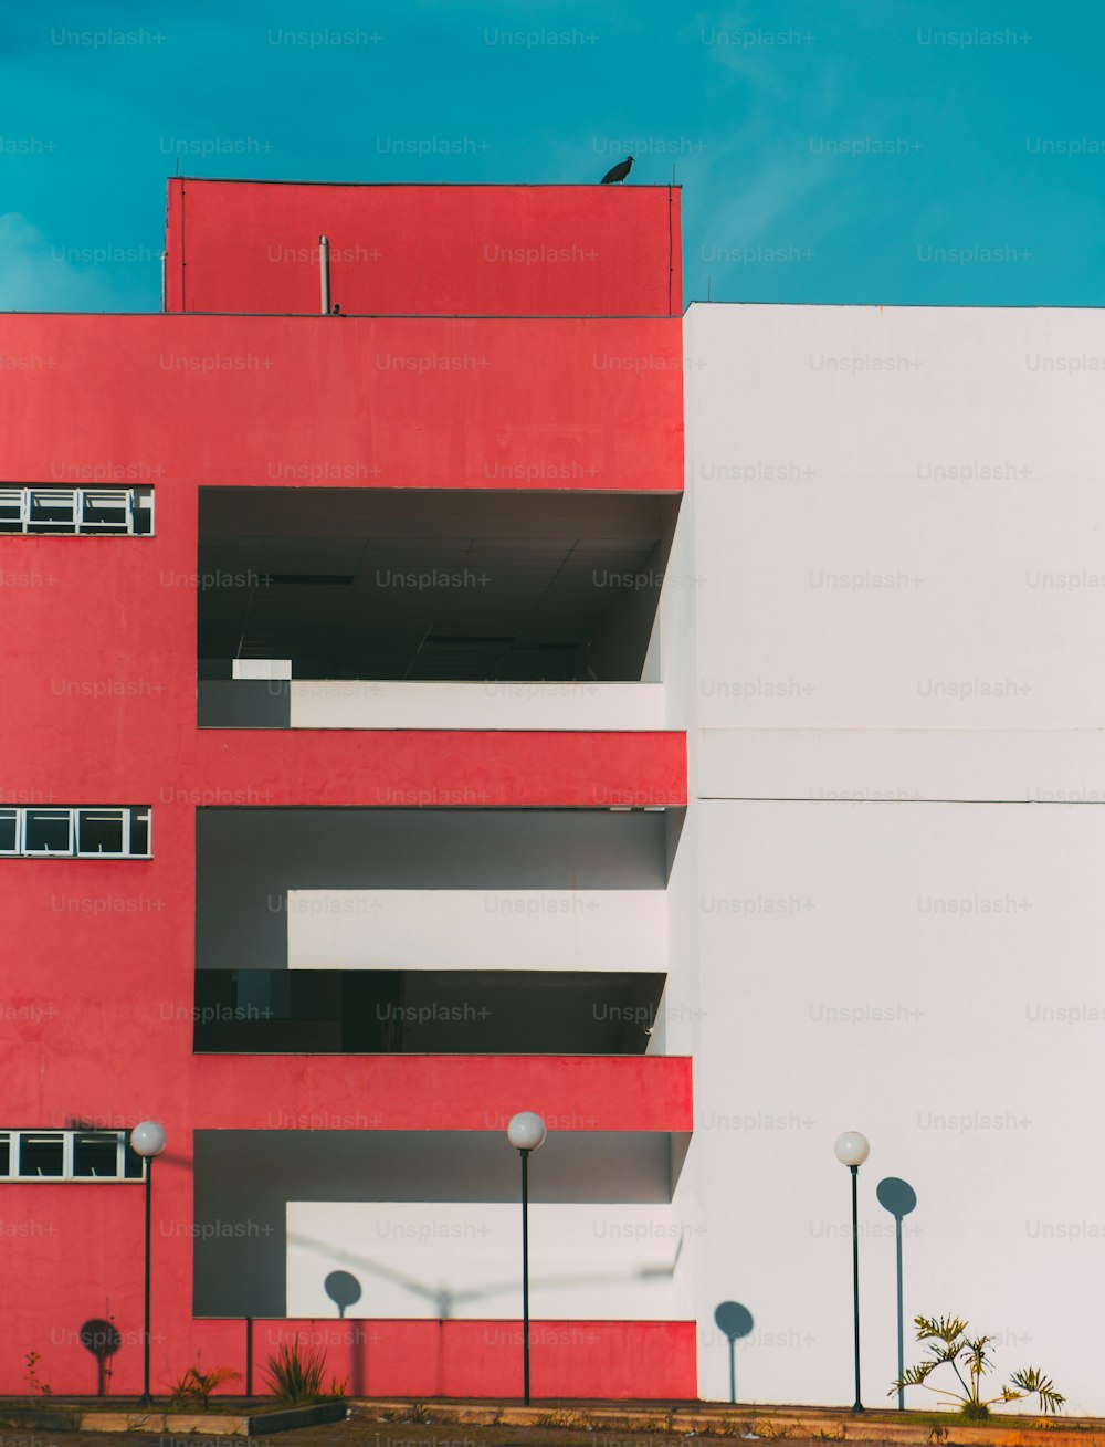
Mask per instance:
[[[320,236],[330,243],[337,315],[320,314]],[[140,1182],[75,1175],[72,1152],[93,1150],[88,1139],[129,1132],[142,1119],[159,1120],[169,1139],[153,1174],[155,1391],[197,1356],[244,1372],[247,1333],[259,1365],[276,1341],[308,1334],[327,1347],[334,1373],[363,1393],[521,1391],[516,1312],[404,1320],[367,1311],[354,1325],[333,1320],[337,1311],[324,1320],[266,1310],[269,1298],[255,1305],[249,1289],[234,1298],[239,1305],[218,1310],[210,1282],[230,1257],[208,1252],[202,1266],[200,1253],[211,1242],[231,1256],[252,1249],[256,1223],[211,1215],[208,1187],[195,1174],[201,1137],[243,1133],[260,1160],[266,1132],[333,1133],[344,1146],[373,1133],[402,1133],[408,1145],[434,1133],[440,1145],[447,1133],[456,1137],[450,1169],[461,1169],[469,1137],[498,1140],[511,1114],[537,1110],[551,1139],[568,1145],[606,1133],[674,1142],[678,1153],[693,1126],[688,1059],[580,1046],[571,1029],[561,1049],[545,1042],[532,1051],[453,1051],[441,1039],[432,1048],[418,1039],[343,1048],[353,1039],[349,972],[333,1019],[311,1016],[317,1036],[304,1033],[302,1010],[281,1016],[283,1036],[220,1043],[197,1033],[201,1017],[218,1017],[204,1001],[230,974],[226,961],[211,965],[202,954],[223,907],[202,884],[223,868],[217,851],[204,852],[214,816],[216,832],[233,832],[229,816],[249,813],[260,838],[266,810],[292,825],[310,813],[327,828],[336,812],[356,812],[369,833],[367,815],[389,812],[404,815],[402,828],[425,826],[428,839],[444,816],[467,813],[480,816],[472,846],[492,849],[496,820],[511,812],[519,828],[537,831],[539,851],[541,831],[552,838],[567,816],[602,815],[606,829],[615,810],[620,829],[626,810],[648,810],[670,826],[686,805],[684,735],[638,726],[632,713],[628,726],[561,728],[534,712],[532,722],[506,728],[496,726],[489,696],[485,726],[450,726],[448,702],[432,726],[350,726],[340,712],[333,726],[295,722],[301,677],[443,687],[499,679],[503,696],[534,684],[535,697],[555,680],[586,687],[648,677],[639,619],[620,598],[592,595],[600,592],[594,579],[620,576],[629,556],[618,528],[631,514],[602,509],[678,505],[678,242],[674,188],[175,179],[165,314],[0,318],[3,352],[26,359],[0,386],[0,491],[9,502],[0,532],[0,826],[10,825],[0,857],[0,1130],[19,1133],[9,1137],[0,1176],[4,1391],[25,1389],[32,1351],[54,1392],[93,1391],[97,1363],[81,1340],[91,1320],[119,1333],[111,1391],[140,1388]],[[94,519],[123,505],[120,492],[135,509],[152,499],[152,530],[97,532]],[[443,559],[469,556],[474,524],[466,508],[516,517],[516,538],[496,534],[513,569],[502,602],[490,598],[499,576],[492,569],[474,622],[464,611],[472,599],[461,606],[421,593],[417,602],[396,595],[391,614],[392,601],[377,599],[363,616],[350,603],[331,618],[333,595],[356,592],[360,577],[338,556],[338,540],[360,525],[343,511],[343,493],[356,493],[359,546],[385,538],[380,547],[392,548],[380,554],[386,567],[375,564],[377,579],[406,576],[411,540],[440,538],[428,564],[418,564],[430,569],[425,576],[437,576]],[[415,493],[409,506],[422,521],[404,524],[406,541],[388,543],[383,512]],[[311,543],[296,518],[311,517],[315,498]],[[81,531],[67,521],[74,508],[93,519]],[[247,525],[236,508],[246,509]],[[278,546],[257,518],[283,517],[283,508],[292,511]],[[597,540],[590,592],[583,582],[574,592],[557,583],[555,606],[526,602],[519,631],[516,579],[537,569],[547,599],[554,593],[545,583],[567,576],[518,541],[544,535],[545,508],[567,518],[566,535],[589,530]],[[662,530],[649,527],[633,522],[633,557],[662,544]],[[268,560],[263,582],[255,553]],[[432,605],[438,624],[424,624],[422,605]],[[609,622],[612,609],[622,621]],[[307,628],[317,648],[304,641]],[[236,644],[227,644],[231,634]],[[385,657],[389,638],[409,660]],[[301,648],[318,654],[305,673]],[[534,661],[542,648],[545,661]],[[581,663],[584,648],[606,661]],[[240,667],[285,655],[288,687],[250,684]],[[252,726],[249,699],[259,689],[289,716],[273,725],[262,708]],[[205,696],[214,700],[207,715]],[[239,697],[247,699],[244,715]],[[586,725],[586,710],[580,718]],[[59,812],[81,809],[107,812],[108,823],[74,813],[62,825]],[[94,841],[95,828],[114,828],[119,809],[132,810],[129,819],[149,816],[148,848],[113,858],[114,844],[90,842],[78,857],[81,831]],[[408,819],[412,812],[422,823]],[[648,816],[638,822],[654,829]],[[71,831],[68,848],[61,833],[49,835],[62,828]],[[467,839],[464,820],[458,828]],[[441,871],[451,884],[444,864]],[[411,878],[399,884],[409,888]],[[204,888],[207,904],[198,901]],[[244,916],[233,929],[249,939]],[[265,975],[272,993],[272,975],[295,972],[294,961],[260,946],[247,955],[242,946],[242,971],[256,975],[249,988]],[[325,981],[315,975],[318,991],[341,972],[344,962],[334,964]],[[633,980],[632,988],[645,988]],[[500,975],[486,988],[506,991],[505,1009],[522,1019],[526,983],[511,981]],[[548,980],[531,985],[544,990]],[[236,977],[233,988],[231,1020],[246,1009],[246,985]],[[485,985],[472,988],[482,1000]],[[602,1006],[603,1019],[610,1009]],[[599,1019],[594,1006],[590,1019]],[[324,1036],[328,1043],[314,1048]],[[69,1152],[62,1171],[51,1163],[59,1136],[58,1150]],[[505,1139],[500,1149],[509,1181],[495,1200],[508,1201],[515,1165]],[[247,1325],[246,1317],[256,1320]],[[694,1357],[688,1320],[535,1320],[534,1393],[693,1396]]]

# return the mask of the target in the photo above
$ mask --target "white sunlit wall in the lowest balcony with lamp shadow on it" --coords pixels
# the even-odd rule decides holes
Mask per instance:
[[[529,1310],[551,1321],[686,1321],[674,1281],[687,1224],[667,1205],[529,1207]],[[349,1317],[513,1320],[516,1204],[288,1202],[288,1314],[333,1317],[330,1272],[362,1283]]]

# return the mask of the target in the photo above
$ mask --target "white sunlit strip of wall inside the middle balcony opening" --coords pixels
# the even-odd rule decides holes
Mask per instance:
[[[288,890],[289,969],[667,968],[664,890]]]

